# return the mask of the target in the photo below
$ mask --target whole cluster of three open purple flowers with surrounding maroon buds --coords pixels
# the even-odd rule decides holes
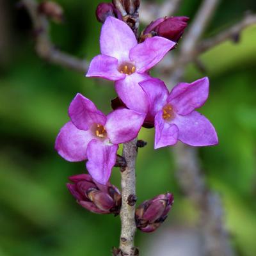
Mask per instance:
[[[100,34],[101,54],[93,58],[86,77],[115,82],[120,104],[104,115],[80,93],[68,109],[70,122],[56,139],[56,150],[67,161],[87,161],[90,175],[70,177],[68,189],[77,202],[97,213],[120,211],[120,193],[109,184],[118,145],[133,140],[141,127],[155,127],[155,148],[182,141],[191,146],[218,143],[211,122],[195,109],[209,94],[209,79],[179,83],[169,92],[149,70],[172,50],[186,28],[187,17],[158,19],[137,40],[113,4],[100,4],[97,19],[104,22]],[[138,43],[139,42],[139,43]],[[140,205],[136,223],[144,232],[154,231],[173,203],[171,194],[159,195]]]

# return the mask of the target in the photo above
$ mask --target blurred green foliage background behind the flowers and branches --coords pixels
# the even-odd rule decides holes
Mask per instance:
[[[94,13],[100,1],[57,2],[65,22],[51,24],[54,44],[88,60],[99,54],[101,24]],[[108,113],[115,91],[110,83],[38,58],[29,17],[15,4],[0,1],[0,256],[110,255],[111,246],[118,246],[120,220],[76,204],[65,183],[68,176],[85,172],[84,163],[58,156],[54,140],[77,92]],[[184,0],[177,14],[193,19],[199,4]],[[205,36],[243,19],[246,10],[255,12],[255,1],[222,1]],[[243,256],[256,255],[255,45],[256,26],[250,26],[239,44],[225,42],[202,56],[211,93],[200,111],[216,127],[220,145],[200,148],[200,159],[210,188],[223,199],[232,243]],[[186,81],[202,76],[191,65]],[[148,146],[138,156],[138,202],[172,191],[175,205],[165,225],[193,225],[195,210],[180,193],[170,149],[154,150],[153,130],[143,129],[139,138]],[[111,182],[120,187],[117,168]],[[138,232],[136,243],[145,244],[150,236]]]

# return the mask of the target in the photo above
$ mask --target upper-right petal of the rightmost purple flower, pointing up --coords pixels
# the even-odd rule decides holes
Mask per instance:
[[[170,102],[179,115],[185,116],[204,105],[209,95],[209,79],[204,77],[193,83],[177,84],[170,96]]]

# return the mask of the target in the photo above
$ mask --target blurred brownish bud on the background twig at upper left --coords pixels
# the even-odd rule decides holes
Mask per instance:
[[[38,12],[44,13],[47,17],[54,20],[55,22],[63,21],[63,8],[60,4],[55,3],[53,1],[44,1],[39,4]]]

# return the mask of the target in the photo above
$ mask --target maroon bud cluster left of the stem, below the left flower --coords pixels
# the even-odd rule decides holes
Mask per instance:
[[[122,197],[115,186],[109,182],[99,184],[89,174],[74,175],[68,179],[74,183],[67,184],[68,190],[85,209],[99,214],[119,214]]]

